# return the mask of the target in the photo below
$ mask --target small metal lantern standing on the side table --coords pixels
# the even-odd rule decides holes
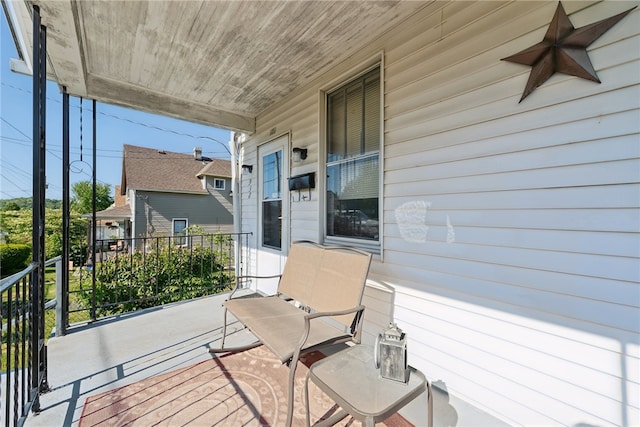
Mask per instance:
[[[407,337],[395,323],[378,335],[375,345],[375,364],[380,376],[406,383],[409,381]]]

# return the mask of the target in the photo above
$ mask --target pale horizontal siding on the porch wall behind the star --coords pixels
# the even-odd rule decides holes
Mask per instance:
[[[565,9],[581,27],[636,5]],[[530,67],[500,59],[541,41],[556,6],[431,4],[259,116],[244,163],[275,128],[309,149],[290,175],[322,176],[321,90],[383,52],[370,278],[395,289],[410,363],[513,425],[639,425],[640,9],[589,47],[601,84],[556,74],[518,103]],[[241,181],[254,233],[256,176]],[[291,203],[292,241],[321,239],[321,196]]]

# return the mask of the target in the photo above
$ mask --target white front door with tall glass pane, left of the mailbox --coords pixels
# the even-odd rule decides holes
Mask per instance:
[[[280,274],[289,248],[289,197],[285,168],[289,137],[275,139],[258,148],[259,219],[258,271],[260,275]],[[274,293],[277,281],[261,286],[265,293]]]

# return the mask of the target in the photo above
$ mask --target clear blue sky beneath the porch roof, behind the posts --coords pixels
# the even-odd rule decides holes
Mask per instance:
[[[0,34],[0,198],[30,197],[32,186],[32,79],[10,70],[9,60],[18,58],[4,13]],[[91,180],[93,156],[93,102],[70,97],[71,185]],[[82,132],[81,129],[82,116]],[[120,184],[122,145],[131,144],[191,154],[196,146],[208,157],[229,159],[230,132],[97,103],[98,182]],[[47,84],[47,192],[49,199],[62,198],[62,94],[58,85]],[[82,147],[82,149],[81,149]],[[81,161],[82,155],[82,161]]]

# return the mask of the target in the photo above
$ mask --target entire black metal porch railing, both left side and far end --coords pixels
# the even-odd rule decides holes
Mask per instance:
[[[64,335],[73,321],[155,307],[224,292],[246,274],[250,233],[146,237],[96,242],[96,265],[77,267],[61,292],[62,258],[53,296],[40,286],[39,264],[0,281],[0,425],[22,426],[48,390],[46,338]],[[89,257],[91,259],[92,257]],[[95,267],[95,275],[93,269]],[[95,277],[95,280],[94,280]],[[33,289],[39,286],[39,301]],[[42,301],[47,299],[45,304]]]

